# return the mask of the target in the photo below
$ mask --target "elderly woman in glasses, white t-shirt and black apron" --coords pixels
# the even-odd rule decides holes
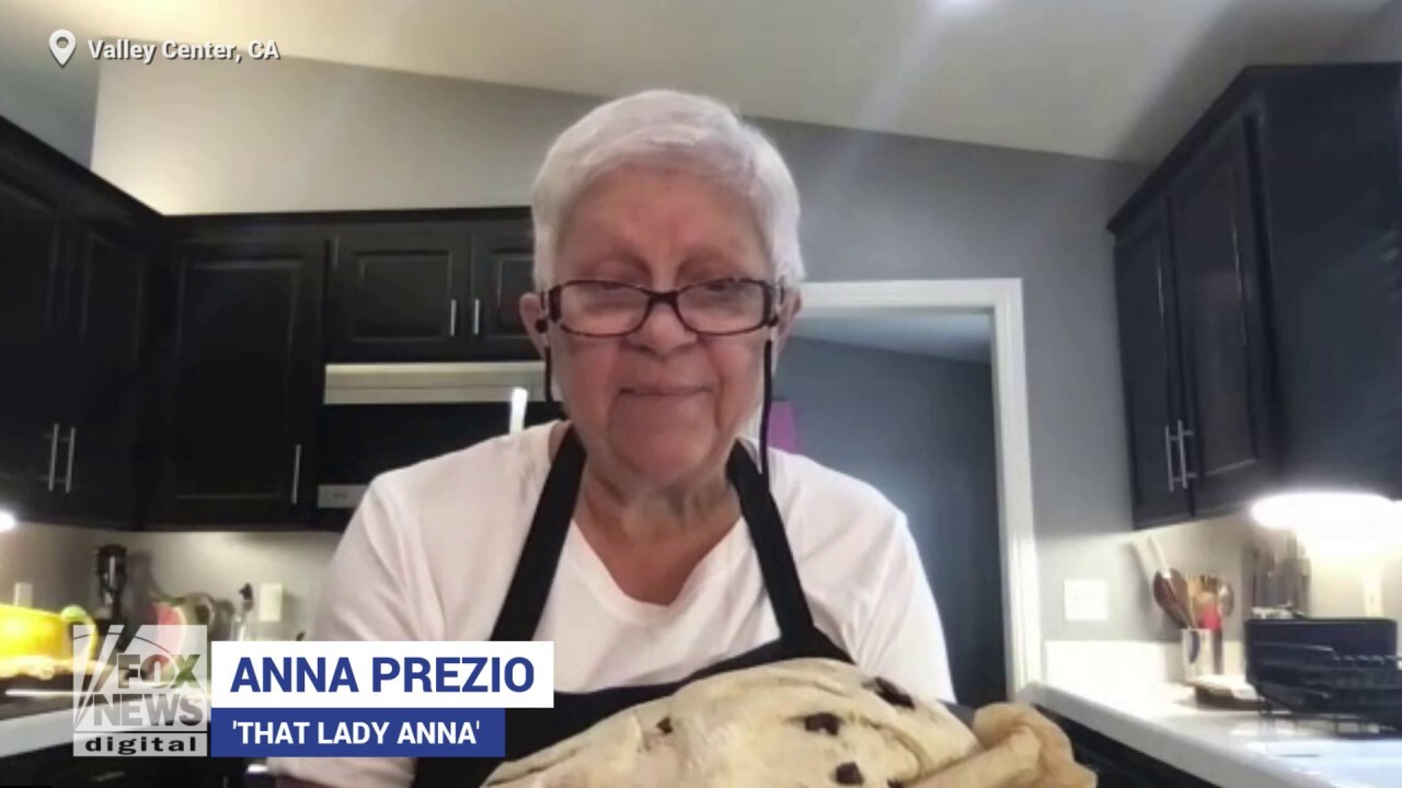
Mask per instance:
[[[613,101],[555,142],[533,216],[538,293],[520,308],[568,421],[377,478],[311,637],[552,641],[554,708],[508,712],[509,760],[794,658],[953,701],[904,515],[749,437],[801,304],[798,191],[774,146],[707,98]],[[495,766],[272,768],[282,785],[465,788]]]

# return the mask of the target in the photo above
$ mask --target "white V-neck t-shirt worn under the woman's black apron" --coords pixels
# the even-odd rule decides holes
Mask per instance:
[[[550,471],[551,425],[376,478],[336,547],[320,641],[485,641]],[[751,446],[753,449],[753,446]],[[817,628],[857,665],[953,701],[939,613],[906,516],[871,485],[771,450],[771,494]],[[780,635],[740,522],[669,606],[628,597],[571,527],[536,638],[566,693],[684,679]],[[510,732],[508,732],[508,736]],[[332,788],[409,785],[409,759],[275,759]]]

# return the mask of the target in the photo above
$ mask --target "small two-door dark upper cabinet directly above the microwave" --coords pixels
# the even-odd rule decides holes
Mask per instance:
[[[519,310],[531,282],[527,215],[352,219],[328,231],[332,363],[536,358]]]

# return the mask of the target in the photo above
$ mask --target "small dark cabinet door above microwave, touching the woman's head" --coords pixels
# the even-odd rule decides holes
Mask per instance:
[[[522,322],[522,296],[534,289],[530,220],[472,226],[472,358],[540,358]]]

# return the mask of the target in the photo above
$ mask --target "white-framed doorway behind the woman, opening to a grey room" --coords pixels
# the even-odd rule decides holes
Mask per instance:
[[[798,449],[910,517],[960,702],[1040,679],[1021,280],[805,283],[775,388]]]

